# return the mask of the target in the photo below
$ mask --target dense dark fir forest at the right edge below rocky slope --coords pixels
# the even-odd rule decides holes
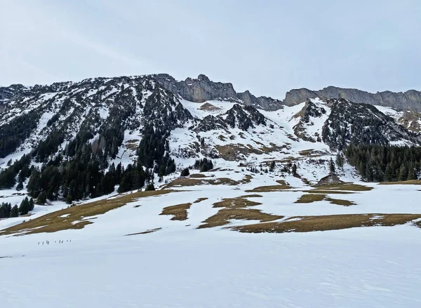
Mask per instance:
[[[352,144],[345,156],[368,182],[415,180],[420,175],[421,147]]]

